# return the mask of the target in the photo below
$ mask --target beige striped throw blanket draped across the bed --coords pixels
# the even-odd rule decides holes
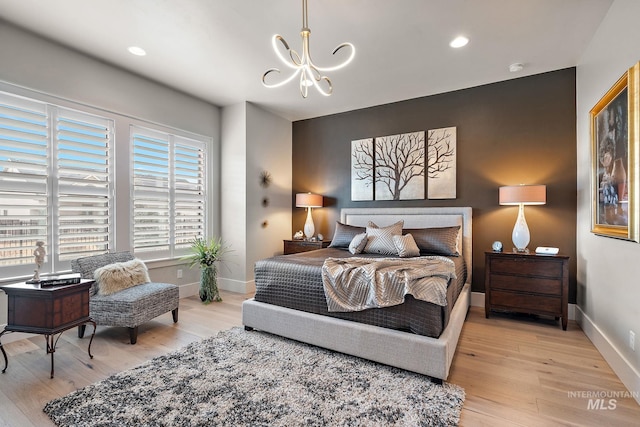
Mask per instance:
[[[404,296],[447,305],[447,286],[455,278],[453,261],[419,258],[327,258],[322,284],[329,311],[362,311],[404,302]]]

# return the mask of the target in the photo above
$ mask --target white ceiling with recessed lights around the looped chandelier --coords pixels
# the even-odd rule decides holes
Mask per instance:
[[[309,0],[314,62],[336,64],[342,42],[356,56],[327,73],[333,95],[306,99],[297,82],[261,83],[281,66],[274,34],[301,49],[300,0],[0,0],[0,17],[215,105],[250,101],[295,121],[575,66],[611,3]],[[469,44],[449,47],[457,35]]]

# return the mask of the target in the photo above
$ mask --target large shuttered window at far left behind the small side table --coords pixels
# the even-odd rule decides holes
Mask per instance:
[[[41,273],[113,246],[113,122],[0,93],[0,267]]]

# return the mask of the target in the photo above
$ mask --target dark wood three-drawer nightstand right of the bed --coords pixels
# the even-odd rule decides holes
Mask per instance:
[[[505,310],[562,318],[567,330],[569,257],[485,252],[485,315]]]

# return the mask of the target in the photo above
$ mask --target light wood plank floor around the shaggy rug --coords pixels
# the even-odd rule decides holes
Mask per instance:
[[[241,325],[240,305],[248,296],[222,292],[222,297],[222,303],[210,305],[196,297],[182,299],[179,322],[166,314],[141,326],[135,346],[128,343],[126,330],[98,327],[93,359],[86,352],[88,338],[67,331],[58,342],[53,379],[42,336],[7,344],[0,426],[51,426],[42,412],[49,400]],[[462,426],[640,425],[640,407],[633,399],[616,399],[615,409],[596,410],[588,408],[588,398],[570,396],[626,390],[574,322],[562,331],[555,322],[527,316],[485,319],[483,309],[472,307],[448,381],[466,391]]]

